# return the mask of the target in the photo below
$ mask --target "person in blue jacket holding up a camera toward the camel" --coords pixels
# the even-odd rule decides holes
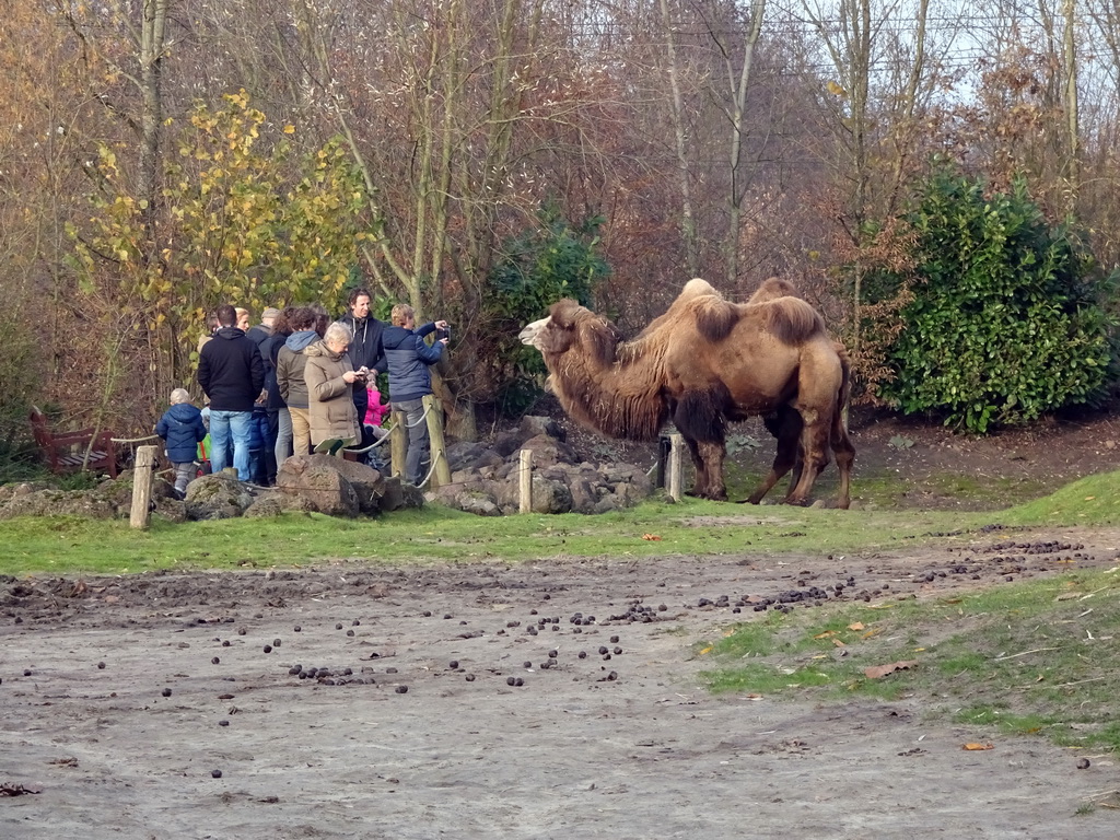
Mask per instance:
[[[424,336],[436,329],[446,330],[447,321],[437,320],[416,328],[416,311],[407,304],[393,307],[392,325],[385,327],[381,342],[389,367],[389,399],[393,411],[404,412],[409,432],[409,454],[404,459],[404,478],[417,486],[423,480],[428,460],[428,423],[423,416],[423,398],[431,393],[429,365],[444,355],[448,338],[429,345]]]

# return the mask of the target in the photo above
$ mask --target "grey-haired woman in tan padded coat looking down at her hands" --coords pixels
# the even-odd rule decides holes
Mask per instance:
[[[327,327],[321,342],[304,351],[311,446],[317,452],[335,455],[344,446],[361,440],[352,391],[355,382],[365,388],[365,375],[354,371],[346,355],[352,338],[349,327],[336,321]]]

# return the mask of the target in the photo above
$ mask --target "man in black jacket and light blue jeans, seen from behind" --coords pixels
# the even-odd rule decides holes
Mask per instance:
[[[249,442],[253,404],[264,386],[261,352],[234,325],[237,312],[228,304],[214,311],[218,330],[198,355],[198,384],[211,400],[211,466],[225,469],[230,439],[233,439],[233,466],[245,482],[252,476]]]

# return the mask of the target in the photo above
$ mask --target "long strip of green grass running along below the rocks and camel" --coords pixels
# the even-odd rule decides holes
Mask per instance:
[[[1120,524],[1120,472],[1083,478],[1045,498],[1000,512],[834,511],[687,498],[600,516],[478,517],[431,505],[373,520],[287,514],[269,520],[170,524],[76,517],[0,522],[0,573],[122,573],[150,569],[375,562],[519,562],[542,557],[814,554],[963,541],[988,524]],[[657,539],[650,539],[657,538]]]

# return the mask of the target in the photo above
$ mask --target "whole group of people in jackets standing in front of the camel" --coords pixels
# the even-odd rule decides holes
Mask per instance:
[[[371,300],[368,290],[355,289],[334,323],[319,306],[269,308],[253,327],[246,310],[217,307],[198,345],[215,473],[233,466],[242,480],[270,485],[291,455],[345,448],[383,468],[372,447],[388,433],[381,420],[389,405],[376,388],[377,374],[388,372],[392,408],[408,428],[404,478],[423,482],[430,445],[422,399],[432,392],[429,367],[447,346],[447,321],[417,328],[412,307],[399,304],[385,324],[370,314]],[[156,432],[167,442],[181,496],[207,429],[186,390],[172,391],[170,403]]]

